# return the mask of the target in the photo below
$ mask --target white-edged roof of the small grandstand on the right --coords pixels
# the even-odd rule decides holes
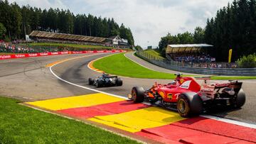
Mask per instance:
[[[202,48],[210,48],[213,45],[208,44],[183,44],[183,45],[167,45],[166,54],[178,52],[199,52]]]

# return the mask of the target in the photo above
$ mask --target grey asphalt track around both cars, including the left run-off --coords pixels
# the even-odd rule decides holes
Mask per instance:
[[[89,77],[97,77],[100,73],[94,72],[87,67],[91,60],[110,54],[79,54],[79,55],[58,55],[48,57],[31,57],[13,60],[0,61],[0,95],[13,96],[23,101],[36,101],[41,99],[52,99],[64,96],[76,96],[82,94],[93,94],[88,89],[75,87],[57,79],[46,65],[77,57],[74,60],[68,60],[52,67],[52,70],[58,77],[68,82],[78,84],[83,87],[87,85]],[[131,58],[131,57],[130,57]],[[134,58],[134,60],[136,60]],[[143,65],[143,62],[141,62]],[[151,69],[155,69],[154,65],[146,65]],[[161,71],[159,69],[158,71]],[[122,77],[124,84],[122,87],[100,88],[102,92],[117,94],[119,96],[127,96],[132,87],[142,86],[144,88],[151,87],[154,82],[168,83],[171,80],[158,79],[134,79]],[[245,82],[242,86],[247,94],[247,101],[242,109],[235,111],[214,112],[210,115],[230,118],[237,121],[256,123],[256,99],[255,89],[256,82]],[[96,89],[95,87],[90,87]]]

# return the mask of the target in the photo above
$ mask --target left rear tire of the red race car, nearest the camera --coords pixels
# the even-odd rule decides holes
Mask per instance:
[[[203,109],[203,103],[194,92],[183,93],[178,96],[177,110],[182,117],[198,116]]]

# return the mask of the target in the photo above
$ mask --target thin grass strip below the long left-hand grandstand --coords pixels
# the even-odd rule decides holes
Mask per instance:
[[[26,43],[23,43],[21,45],[26,45]],[[62,46],[62,47],[72,47],[72,48],[92,48],[92,49],[98,49],[98,48],[106,48],[106,49],[112,49],[112,47],[107,46],[100,46],[100,45],[79,45],[79,44],[73,44],[73,43],[28,43],[30,46]]]

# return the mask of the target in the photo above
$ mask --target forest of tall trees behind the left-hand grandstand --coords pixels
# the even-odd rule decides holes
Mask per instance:
[[[123,24],[119,26],[113,18],[101,18],[91,14],[74,15],[63,9],[20,7],[15,2],[9,4],[7,0],[0,0],[0,39],[25,38],[33,30],[103,38],[119,35],[127,39],[130,45],[134,45],[132,31]]]

